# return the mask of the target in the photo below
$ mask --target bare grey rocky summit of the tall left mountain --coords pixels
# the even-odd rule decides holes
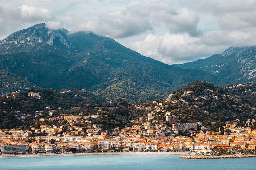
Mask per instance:
[[[36,45],[47,43],[53,45],[54,42],[59,42],[70,49],[76,49],[74,45],[67,38],[68,31],[65,29],[52,30],[46,27],[46,24],[36,24],[25,30],[17,31],[6,39],[0,41],[1,45],[15,43]]]

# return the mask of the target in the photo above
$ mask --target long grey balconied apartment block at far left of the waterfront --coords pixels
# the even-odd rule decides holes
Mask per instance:
[[[28,144],[2,145],[2,154],[28,153]]]

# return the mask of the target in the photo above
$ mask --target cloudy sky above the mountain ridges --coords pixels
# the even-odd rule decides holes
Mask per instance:
[[[0,40],[34,24],[115,39],[167,64],[256,45],[256,0],[1,0]]]

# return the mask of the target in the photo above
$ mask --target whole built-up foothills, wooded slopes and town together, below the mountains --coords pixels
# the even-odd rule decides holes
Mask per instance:
[[[9,122],[0,130],[1,153],[255,154],[255,90],[253,82],[219,88],[200,81],[162,100],[135,104],[84,103],[82,89],[17,90],[0,98],[1,115],[13,123],[4,118]],[[46,100],[45,94],[60,98]],[[68,105],[57,102],[63,95],[70,97]]]

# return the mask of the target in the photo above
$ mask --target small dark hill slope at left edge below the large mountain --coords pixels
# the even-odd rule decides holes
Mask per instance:
[[[32,82],[26,81],[21,77],[12,74],[11,72],[0,69],[0,92],[10,93],[15,89],[28,90],[32,88],[39,89],[37,85]]]

